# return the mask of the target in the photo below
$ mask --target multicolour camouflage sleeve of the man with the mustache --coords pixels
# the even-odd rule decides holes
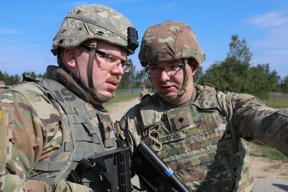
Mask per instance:
[[[88,187],[64,180],[51,185],[27,180],[38,161],[55,153],[62,142],[62,136],[57,138],[61,118],[43,93],[22,91],[9,90],[0,94],[0,129],[3,133],[0,153],[6,154],[0,158],[0,191],[92,192]]]

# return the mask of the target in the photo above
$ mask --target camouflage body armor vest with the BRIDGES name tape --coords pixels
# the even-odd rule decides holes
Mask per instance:
[[[235,134],[232,107],[217,101],[212,85],[198,86],[196,92],[190,105],[168,111],[157,94],[143,100],[143,139],[190,191],[252,191],[247,145]]]

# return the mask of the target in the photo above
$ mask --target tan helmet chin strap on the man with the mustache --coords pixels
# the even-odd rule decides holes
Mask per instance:
[[[113,97],[115,97],[115,94],[113,93],[111,97],[103,95],[96,91],[94,89],[94,84],[93,84],[93,63],[94,63],[94,55],[95,55],[95,49],[96,49],[97,41],[90,41],[90,56],[89,56],[89,64],[88,64],[88,91],[91,94],[91,96],[97,101],[97,102],[108,102],[110,101]],[[85,85],[84,85],[85,86]],[[86,86],[85,86],[86,87]],[[86,87],[87,88],[87,87]],[[101,99],[101,100],[99,100]]]

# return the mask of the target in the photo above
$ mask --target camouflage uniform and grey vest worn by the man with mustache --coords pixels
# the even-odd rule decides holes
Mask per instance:
[[[81,159],[116,147],[109,111],[101,105],[88,103],[86,93],[62,69],[49,66],[47,70],[50,71],[48,79],[33,80],[22,76],[23,83],[1,91],[1,132],[6,133],[7,138],[1,138],[2,141],[7,140],[1,186],[4,191],[63,191],[66,188],[69,191],[91,191],[88,187],[65,180]],[[67,81],[69,90],[52,80],[56,79],[56,74]],[[41,84],[45,80],[52,81],[49,86],[62,88],[54,92],[47,90]],[[39,81],[41,86],[35,81]],[[61,100],[63,103],[77,100],[81,103],[79,106],[73,104],[74,107],[63,106]],[[57,163],[63,166],[57,169]],[[49,164],[53,164],[53,171],[49,170]],[[99,171],[99,167],[92,170],[94,178],[99,177],[95,173],[97,169]],[[86,180],[84,185],[91,187],[90,182],[100,181],[100,178]]]

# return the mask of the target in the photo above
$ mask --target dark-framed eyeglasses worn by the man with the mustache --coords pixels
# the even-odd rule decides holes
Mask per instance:
[[[84,45],[79,45],[80,47],[85,47],[86,49],[88,49],[90,51],[90,47],[86,47]],[[123,67],[123,71],[124,72],[128,72],[130,71],[130,69],[132,68],[133,64],[129,61],[124,61],[122,60],[121,58],[115,56],[115,55],[111,55],[111,54],[107,54],[105,52],[102,52],[102,51],[99,51],[99,50],[96,50],[95,49],[95,53],[103,56],[106,58],[106,64],[113,67],[113,68],[116,68],[118,67],[120,64],[122,65]]]

